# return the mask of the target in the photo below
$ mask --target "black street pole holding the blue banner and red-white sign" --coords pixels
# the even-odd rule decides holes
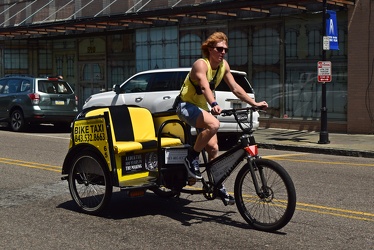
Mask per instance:
[[[326,36],[326,12],[327,5],[326,0],[323,0],[323,12],[322,12],[322,31],[323,37]],[[322,49],[322,61],[326,61],[326,50]],[[326,82],[322,83],[322,107],[321,107],[321,131],[319,133],[319,144],[328,144],[329,132],[327,132],[327,107],[326,107]]]

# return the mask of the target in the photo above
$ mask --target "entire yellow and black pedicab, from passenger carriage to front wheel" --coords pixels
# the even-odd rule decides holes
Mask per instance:
[[[234,186],[240,214],[255,229],[278,230],[295,211],[295,187],[281,165],[259,156],[252,135],[254,111],[250,107],[223,111],[234,115],[243,134],[212,161],[203,153],[202,187],[188,188],[196,184],[184,165],[192,144],[191,128],[175,111],[152,114],[126,105],[85,109],[72,123],[62,179],[68,181],[70,194],[83,212],[99,214],[114,187],[130,197],[150,190],[162,197],[189,193],[214,200],[223,182],[241,165]]]

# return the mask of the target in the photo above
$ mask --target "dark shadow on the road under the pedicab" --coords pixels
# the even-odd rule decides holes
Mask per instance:
[[[183,226],[213,221],[242,229],[251,229],[247,223],[231,218],[232,214],[237,213],[236,211],[219,210],[219,208],[212,210],[201,206],[193,206],[193,203],[199,204],[201,202],[209,201],[192,202],[184,198],[160,198],[153,193],[147,193],[139,198],[129,198],[122,192],[114,192],[109,206],[98,216],[112,220],[123,220],[126,218],[161,215],[176,220]],[[80,212],[72,200],[60,204],[58,208]],[[233,207],[234,209],[235,207]]]

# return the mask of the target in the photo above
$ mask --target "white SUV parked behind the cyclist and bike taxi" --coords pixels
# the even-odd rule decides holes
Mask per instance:
[[[157,69],[137,73],[115,87],[116,91],[90,96],[83,108],[127,104],[145,107],[152,113],[169,110],[172,108],[175,97],[179,94],[181,85],[190,70],[190,68]],[[235,70],[232,70],[231,73],[248,95],[255,98],[246,73]],[[226,83],[221,83],[215,92],[216,100],[222,109],[248,106],[230,91]],[[258,117],[257,112],[253,114],[253,127],[255,129],[259,126]],[[234,117],[218,116],[218,119],[221,124],[218,130],[219,135],[241,131]]]

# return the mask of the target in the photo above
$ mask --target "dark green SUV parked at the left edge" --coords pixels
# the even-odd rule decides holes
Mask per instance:
[[[78,100],[70,85],[54,78],[7,76],[0,79],[0,121],[13,131],[30,123],[70,126],[78,113]]]

